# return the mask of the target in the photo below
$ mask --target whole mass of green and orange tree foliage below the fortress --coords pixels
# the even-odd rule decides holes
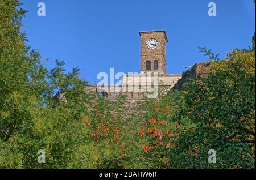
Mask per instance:
[[[0,168],[255,168],[255,52],[220,61],[202,48],[217,60],[208,77],[136,112],[123,96],[85,92],[79,68],[44,67],[21,31],[25,14],[0,1]]]

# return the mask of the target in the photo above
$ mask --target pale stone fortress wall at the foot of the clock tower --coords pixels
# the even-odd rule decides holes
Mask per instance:
[[[122,85],[88,85],[85,91],[102,93],[107,100],[117,100],[119,95],[126,95],[127,100],[139,101],[148,97],[151,88],[158,88],[159,93],[166,94],[180,78],[181,74],[123,75]]]

